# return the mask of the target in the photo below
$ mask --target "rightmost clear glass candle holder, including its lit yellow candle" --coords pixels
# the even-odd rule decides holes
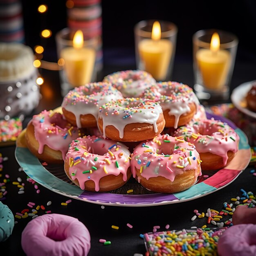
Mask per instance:
[[[238,38],[217,29],[193,35],[194,90],[200,100],[227,100],[233,75]]]

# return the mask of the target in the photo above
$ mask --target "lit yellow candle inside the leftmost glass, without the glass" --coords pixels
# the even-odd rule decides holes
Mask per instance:
[[[71,85],[81,86],[90,83],[94,70],[95,50],[83,47],[83,32],[76,31],[73,38],[73,47],[61,50],[64,59],[64,70]]]

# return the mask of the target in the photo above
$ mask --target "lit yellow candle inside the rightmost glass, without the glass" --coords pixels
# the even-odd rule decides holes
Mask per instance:
[[[196,60],[204,86],[211,90],[221,89],[227,79],[231,58],[227,50],[220,49],[218,33],[213,34],[210,49],[198,50]]]

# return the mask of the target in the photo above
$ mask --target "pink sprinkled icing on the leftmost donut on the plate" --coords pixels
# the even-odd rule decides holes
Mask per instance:
[[[54,150],[60,150],[65,160],[70,142],[81,136],[77,127],[70,129],[72,125],[63,119],[60,113],[44,110],[34,115],[31,122],[34,126],[35,138],[39,143],[39,154],[43,153],[44,146],[47,145]]]

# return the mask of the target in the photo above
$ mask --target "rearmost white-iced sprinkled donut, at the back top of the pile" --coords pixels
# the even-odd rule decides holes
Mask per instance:
[[[146,89],[156,85],[153,76],[143,70],[123,70],[104,77],[103,82],[111,83],[123,96],[143,98]]]

